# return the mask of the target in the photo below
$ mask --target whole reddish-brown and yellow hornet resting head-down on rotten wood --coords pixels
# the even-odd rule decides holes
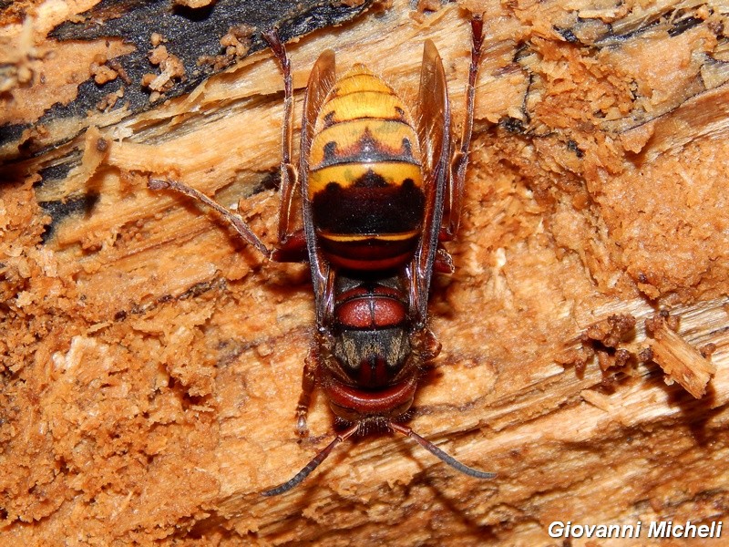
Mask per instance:
[[[278,243],[273,248],[237,214],[190,186],[149,181],[152,190],[171,189],[207,204],[270,260],[305,260],[311,266],[316,327],[303,369],[296,429],[306,433],[316,385],[344,428],[293,479],[264,495],[292,489],[336,445],[372,430],[406,435],[472,477],[495,476],[467,467],[403,423],[423,366],[440,351],[427,326],[427,297],[433,272],[453,270],[441,243],[452,240],[458,229],[482,27],[481,18],[474,17],[467,113],[458,143],[451,137],[446,75],[431,40],[424,46],[416,112],[364,65],[337,77],[334,52],[324,51],[306,87],[298,169],[292,158],[289,57],[275,30],[263,34],[282,67],[285,101]],[[293,225],[299,187],[302,229]]]

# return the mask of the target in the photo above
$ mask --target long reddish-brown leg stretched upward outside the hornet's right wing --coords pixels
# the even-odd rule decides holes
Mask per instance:
[[[468,165],[468,149],[471,144],[473,132],[473,109],[476,98],[476,77],[481,64],[481,46],[483,45],[484,22],[480,15],[471,19],[471,64],[468,68],[468,87],[466,99],[466,119],[463,121],[463,133],[460,146],[455,150],[451,160],[451,170],[448,177],[446,203],[444,207],[443,226],[440,232],[440,241],[450,241],[456,237],[458,225],[461,220],[463,207],[463,191],[466,182],[466,168]]]

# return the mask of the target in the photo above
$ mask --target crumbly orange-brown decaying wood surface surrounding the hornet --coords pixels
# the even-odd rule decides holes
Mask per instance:
[[[13,128],[139,48],[47,37],[94,4],[5,13]],[[327,47],[340,69],[364,62],[415,97],[430,37],[458,124],[467,10],[484,13],[457,272],[430,303],[443,352],[410,425],[498,477],[459,476],[383,435],[260,495],[332,438],[321,394],[311,437],[294,433],[307,269],[262,261],[210,212],[146,186],[171,175],[228,206],[242,196],[272,242],[282,78],[260,51],[189,93],[148,86],[144,108],[108,102],[0,143],[0,542],[552,545],[552,521],[729,532],[726,15],[683,2],[379,9],[288,45],[296,108]],[[646,334],[657,311],[677,333]],[[666,363],[704,362],[715,374],[689,382],[693,396],[666,385],[681,377]]]

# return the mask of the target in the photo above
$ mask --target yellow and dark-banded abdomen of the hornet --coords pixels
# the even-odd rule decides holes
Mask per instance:
[[[392,268],[410,258],[423,222],[421,151],[402,99],[363,65],[324,99],[309,153],[308,198],[336,266]]]

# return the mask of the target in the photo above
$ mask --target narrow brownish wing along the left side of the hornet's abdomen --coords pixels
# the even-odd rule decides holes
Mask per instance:
[[[306,247],[309,252],[309,263],[312,267],[313,293],[316,301],[316,323],[323,325],[331,315],[333,294],[330,282],[330,267],[323,260],[322,253],[316,243],[316,233],[313,226],[312,203],[309,195],[309,150],[312,146],[314,123],[319,109],[329,90],[336,81],[334,51],[327,49],[314,63],[306,85],[306,95],[303,98],[303,120],[301,135],[301,151],[299,155],[299,177],[302,183],[303,195],[303,232],[306,236]]]

